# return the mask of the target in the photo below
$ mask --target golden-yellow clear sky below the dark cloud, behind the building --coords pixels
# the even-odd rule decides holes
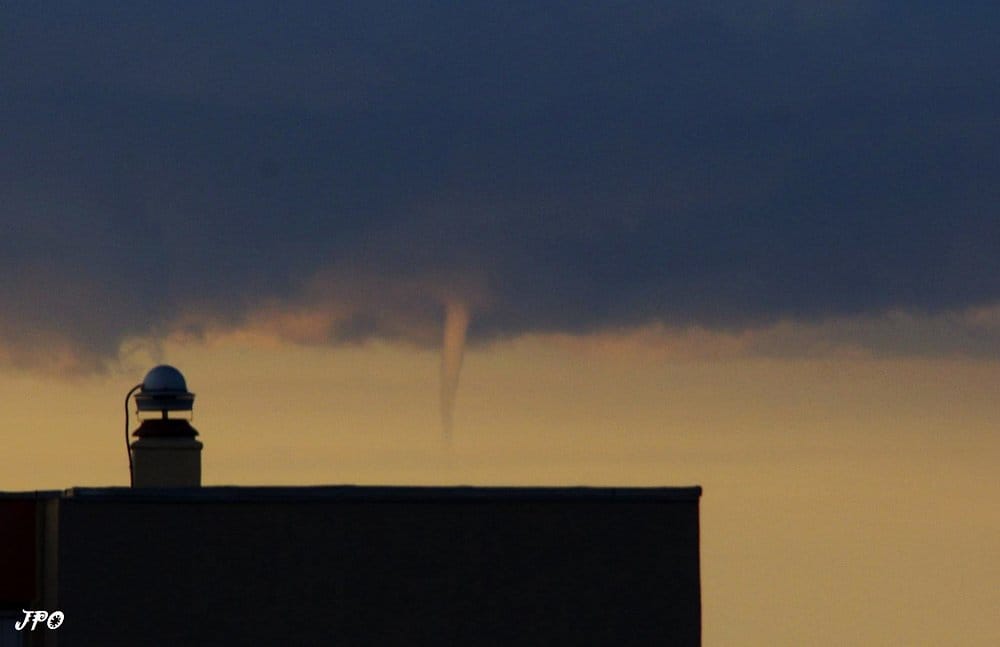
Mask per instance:
[[[472,350],[451,446],[434,352],[243,334],[162,359],[197,393],[206,484],[698,484],[706,645],[996,643],[1000,363],[651,349]],[[0,375],[0,488],[125,484],[122,398],[154,361]]]

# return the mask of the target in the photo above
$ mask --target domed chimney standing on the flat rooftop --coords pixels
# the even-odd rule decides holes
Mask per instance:
[[[136,389],[136,409],[158,411],[160,417],[143,420],[132,433],[137,439],[131,444],[132,487],[200,487],[198,431],[186,419],[168,415],[194,408],[184,376],[173,366],[157,366]]]

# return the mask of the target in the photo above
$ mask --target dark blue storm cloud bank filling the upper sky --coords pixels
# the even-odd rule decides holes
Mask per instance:
[[[3,344],[1000,297],[992,4],[330,4],[4,7]]]

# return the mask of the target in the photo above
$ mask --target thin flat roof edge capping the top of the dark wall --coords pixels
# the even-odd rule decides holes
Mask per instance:
[[[11,493],[13,494],[13,493]],[[24,492],[25,498],[79,502],[270,503],[270,502],[447,502],[510,501],[662,503],[696,501],[701,486],[688,487],[478,487],[478,486],[208,486],[198,488],[74,487],[62,492]],[[0,495],[2,496],[2,495]]]

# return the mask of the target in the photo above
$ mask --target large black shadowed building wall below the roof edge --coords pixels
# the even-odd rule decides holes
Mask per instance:
[[[697,488],[133,492],[60,501],[61,647],[700,643]]]

